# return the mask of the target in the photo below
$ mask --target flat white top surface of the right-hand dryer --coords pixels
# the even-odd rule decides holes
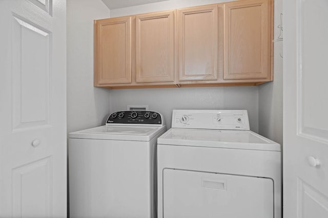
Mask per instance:
[[[280,151],[280,144],[252,131],[173,128],[157,139],[158,144],[227,149]]]

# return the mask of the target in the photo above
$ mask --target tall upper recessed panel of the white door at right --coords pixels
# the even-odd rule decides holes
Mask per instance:
[[[322,114],[328,111],[328,104],[322,101],[326,98],[326,82],[328,81],[328,74],[322,74],[322,70],[328,69],[326,54],[328,27],[325,20],[328,18],[325,15],[328,4],[324,0],[315,3],[306,0],[300,3],[299,134],[328,143],[328,126],[326,119],[322,118]]]

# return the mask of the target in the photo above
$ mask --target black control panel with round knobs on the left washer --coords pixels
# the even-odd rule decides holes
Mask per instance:
[[[107,119],[106,125],[111,124],[162,125],[162,117],[155,111],[117,111]]]

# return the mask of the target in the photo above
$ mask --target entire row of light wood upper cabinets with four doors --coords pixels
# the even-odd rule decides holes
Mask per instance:
[[[272,81],[272,10],[272,0],[240,0],[95,20],[95,86]]]

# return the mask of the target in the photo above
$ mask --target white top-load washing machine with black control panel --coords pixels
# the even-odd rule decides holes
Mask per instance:
[[[157,112],[118,111],[105,126],[70,133],[70,217],[155,217],[156,142],[165,131]]]

